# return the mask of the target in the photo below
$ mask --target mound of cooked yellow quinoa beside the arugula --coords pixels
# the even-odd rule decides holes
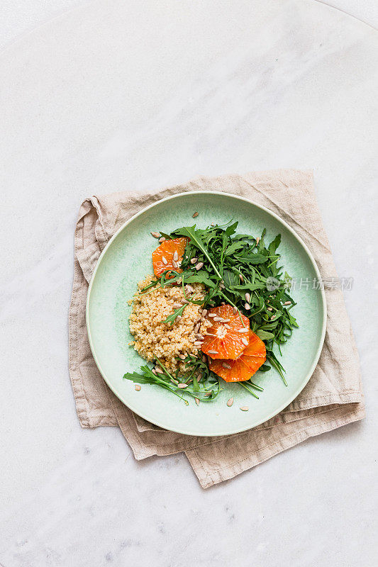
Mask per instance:
[[[140,290],[154,279],[148,275],[138,283],[138,293],[133,297],[133,310],[130,315],[130,332],[135,337],[134,349],[141,357],[148,361],[159,359],[169,371],[184,371],[184,363],[177,360],[181,355],[199,354],[198,347],[194,346],[196,334],[204,335],[206,328],[211,326],[208,320],[201,321],[201,305],[189,303],[182,313],[180,320],[172,325],[165,325],[162,321],[174,312],[174,304],[182,303],[184,293],[182,286],[157,286],[140,295]],[[205,295],[202,283],[193,283],[191,286],[195,293],[188,293],[187,297],[199,300]],[[176,306],[177,308],[177,306]],[[199,324],[199,329],[194,328]]]

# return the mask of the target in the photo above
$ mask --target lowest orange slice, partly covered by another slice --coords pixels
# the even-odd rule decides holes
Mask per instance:
[[[250,342],[236,360],[212,360],[210,370],[226,382],[244,382],[265,363],[267,352],[265,344],[250,330]]]

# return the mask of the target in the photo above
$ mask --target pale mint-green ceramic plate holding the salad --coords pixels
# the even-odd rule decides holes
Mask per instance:
[[[174,228],[193,225],[192,214],[199,211],[196,225],[238,220],[238,232],[260,235],[267,228],[267,239],[279,232],[282,264],[291,277],[320,277],[308,248],[298,235],[277,215],[257,203],[228,193],[180,193],[145,208],[130,218],[111,238],[96,265],[87,297],[87,329],[91,351],[99,371],[118,398],[145,420],[167,430],[187,435],[227,435],[255,427],[286,408],[306,386],[315,369],[326,332],[326,298],[324,291],[299,285],[291,295],[298,303],[293,313],[299,322],[289,342],[282,349],[282,364],[287,371],[288,386],[274,369],[257,371],[254,381],[264,388],[256,400],[237,383],[222,381],[223,391],[211,403],[189,405],[175,395],[149,384],[135,391],[134,383],[123,380],[126,371],[138,371],[143,359],[128,347],[133,340],[128,330],[130,306],[138,281],[152,273],[151,254],[157,245],[152,230],[171,232]],[[226,401],[235,401],[228,408]],[[249,411],[240,411],[248,405]]]

